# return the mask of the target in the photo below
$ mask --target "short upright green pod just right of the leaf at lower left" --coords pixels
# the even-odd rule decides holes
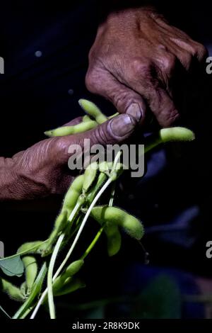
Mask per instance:
[[[30,295],[37,277],[37,261],[35,256],[23,256],[23,266],[25,267],[25,283],[27,287],[27,294]]]

